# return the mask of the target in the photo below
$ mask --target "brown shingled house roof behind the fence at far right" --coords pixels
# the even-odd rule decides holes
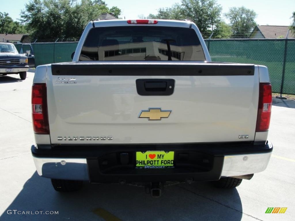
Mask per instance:
[[[253,32],[257,31],[258,29],[265,38],[278,38],[280,36],[284,36],[283,38],[294,38],[294,34],[291,32],[291,30],[287,36],[289,26],[257,25],[255,29]]]

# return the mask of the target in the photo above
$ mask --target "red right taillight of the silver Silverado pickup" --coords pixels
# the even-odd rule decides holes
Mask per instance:
[[[268,130],[271,121],[271,102],[271,84],[260,83],[256,132]]]

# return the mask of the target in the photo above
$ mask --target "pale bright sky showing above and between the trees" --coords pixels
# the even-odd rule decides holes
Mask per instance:
[[[29,0],[0,0],[0,12],[7,12],[12,19],[20,18],[20,12]],[[138,15],[156,14],[158,8],[170,7],[181,0],[105,0],[108,7],[117,6],[122,10],[121,16],[126,19],[136,19]],[[256,22],[259,25],[286,25],[291,24],[292,12],[295,11],[295,0],[217,0],[222,6],[222,14],[230,7],[245,6],[253,9],[257,14]],[[222,16],[224,18],[224,16]],[[224,20],[229,23],[225,18]]]

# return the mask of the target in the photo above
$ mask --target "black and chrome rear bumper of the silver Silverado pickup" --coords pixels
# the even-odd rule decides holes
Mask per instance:
[[[266,169],[273,146],[266,144],[183,144],[132,146],[69,146],[37,149],[32,155],[37,172],[53,179],[89,180],[92,183],[219,180]],[[175,151],[175,168],[135,169],[135,152]],[[120,153],[128,153],[122,164]],[[181,156],[181,157],[180,157]],[[184,159],[183,159],[184,156]]]

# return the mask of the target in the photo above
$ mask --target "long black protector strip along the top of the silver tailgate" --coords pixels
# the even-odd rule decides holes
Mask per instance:
[[[52,75],[236,76],[254,75],[254,65],[230,64],[52,64]]]

